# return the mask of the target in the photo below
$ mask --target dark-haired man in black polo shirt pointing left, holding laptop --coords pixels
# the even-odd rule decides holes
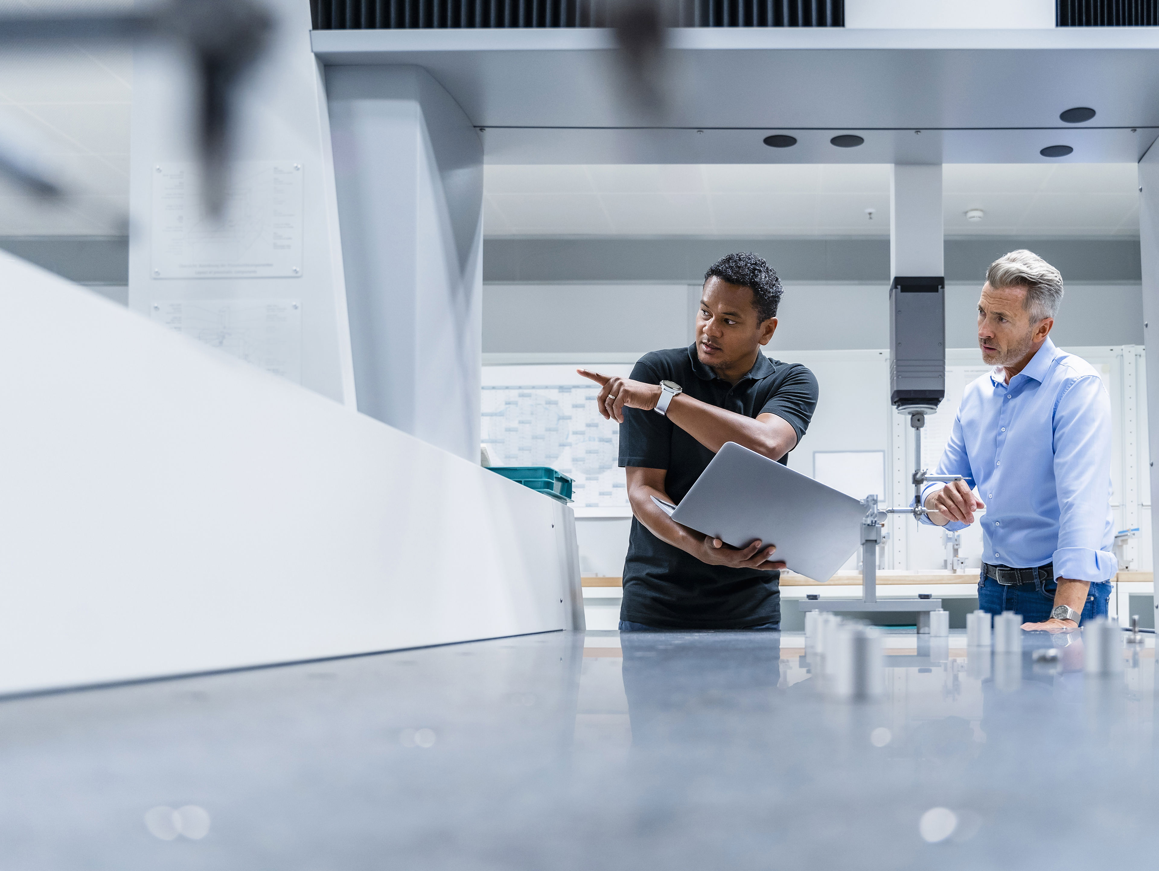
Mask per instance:
[[[705,275],[697,341],[644,354],[630,379],[599,382],[599,410],[620,426],[632,537],[620,630],[777,629],[774,546],[735,549],[680,526],[651,499],[678,504],[726,441],[787,463],[817,407],[804,366],[760,352],[777,331],[781,283],[755,254],[730,254]]]

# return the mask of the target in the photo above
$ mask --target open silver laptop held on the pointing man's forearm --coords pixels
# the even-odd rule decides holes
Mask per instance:
[[[861,547],[865,513],[859,500],[727,441],[670,515],[735,548],[775,544],[773,562],[829,580]]]

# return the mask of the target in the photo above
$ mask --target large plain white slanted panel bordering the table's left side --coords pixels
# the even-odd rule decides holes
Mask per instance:
[[[568,623],[570,508],[9,255],[0,368],[0,693]]]

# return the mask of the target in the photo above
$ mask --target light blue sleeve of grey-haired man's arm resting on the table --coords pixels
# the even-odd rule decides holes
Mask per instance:
[[[1102,550],[1110,492],[1110,397],[1098,375],[1077,379],[1055,410],[1055,485],[1058,490],[1056,578],[1110,580],[1115,555]]]

